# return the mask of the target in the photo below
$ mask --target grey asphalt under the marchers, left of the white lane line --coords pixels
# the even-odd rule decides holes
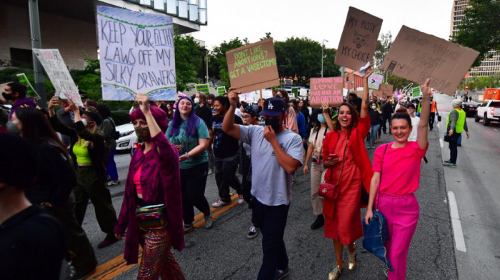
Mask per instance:
[[[420,218],[409,250],[407,279],[458,279],[440,135],[436,130],[430,132],[429,164],[421,164],[420,188],[416,191]],[[392,136],[383,134],[382,140],[384,143],[392,141]],[[369,150],[371,158],[373,151]],[[116,161],[120,178],[124,179],[130,156],[119,154]],[[291,270],[288,279],[326,279],[333,268],[334,247],[330,239],[324,238],[323,229],[312,231],[309,228],[314,221],[309,199],[310,177],[301,171],[298,174],[292,186],[292,203],[284,237]],[[111,188],[116,213],[121,207],[123,190],[123,184]],[[209,176],[206,197],[209,203],[219,199],[214,175]],[[261,235],[256,239],[246,238],[251,225],[250,210],[246,204],[234,202],[230,207],[219,209],[214,216],[212,229],[205,229],[201,220],[198,224],[201,227],[186,236],[186,248],[181,252],[174,251],[186,279],[256,279],[262,259]],[[364,211],[361,216],[364,216]],[[87,209],[84,229],[96,248],[104,234],[96,223],[91,205]],[[356,244],[359,248],[361,239]],[[121,261],[123,252],[123,241],[96,249],[99,267],[89,279],[135,279],[138,266],[125,266]],[[344,250],[344,261],[346,257]],[[354,271],[345,270],[341,279],[384,279],[382,263],[371,254],[358,251],[358,266]]]

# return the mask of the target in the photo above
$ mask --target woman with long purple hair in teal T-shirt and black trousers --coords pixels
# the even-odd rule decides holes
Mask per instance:
[[[166,130],[166,138],[179,149],[181,166],[182,212],[184,233],[194,230],[194,207],[205,216],[205,227],[210,229],[213,220],[209,202],[205,197],[206,176],[209,170],[209,129],[194,114],[193,101],[183,96],[176,103],[174,118]]]

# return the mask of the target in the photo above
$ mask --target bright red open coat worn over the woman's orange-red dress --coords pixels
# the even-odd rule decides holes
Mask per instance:
[[[366,148],[364,146],[364,140],[370,131],[370,117],[366,116],[365,118],[359,118],[358,125],[351,131],[351,139],[349,139],[348,149],[351,154],[354,156],[354,162],[356,166],[358,166],[361,171],[361,181],[363,183],[364,189],[369,194],[370,193],[370,183],[371,177],[374,176],[374,171],[371,167],[371,161],[366,153]],[[326,141],[328,139],[328,141]],[[326,138],[324,140],[324,145],[328,143],[329,149],[323,149],[323,159],[328,158],[328,151],[334,151],[335,146],[339,141],[339,132],[330,131],[326,134]],[[325,174],[325,178],[330,178],[330,171],[328,169]],[[335,184],[336,182],[330,182]],[[366,205],[361,205],[361,207],[366,207]]]

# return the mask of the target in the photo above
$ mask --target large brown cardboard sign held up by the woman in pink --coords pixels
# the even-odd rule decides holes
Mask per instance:
[[[429,86],[451,96],[478,55],[474,49],[403,26],[380,69],[419,84],[431,78]]]

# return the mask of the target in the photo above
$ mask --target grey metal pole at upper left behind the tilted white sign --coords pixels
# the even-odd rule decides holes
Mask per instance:
[[[29,26],[31,29],[31,49],[41,49],[40,16],[38,12],[38,0],[28,0]],[[33,72],[35,76],[35,89],[40,99],[36,102],[41,108],[46,108],[47,97],[45,93],[44,67],[33,52]]]

